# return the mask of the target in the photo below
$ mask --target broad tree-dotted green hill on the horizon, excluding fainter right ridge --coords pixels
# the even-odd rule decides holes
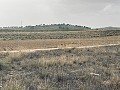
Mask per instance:
[[[50,24],[50,25],[35,25],[35,26],[25,26],[25,27],[2,27],[1,31],[33,31],[33,32],[41,32],[41,31],[80,31],[80,30],[88,30],[90,27],[86,26],[78,26],[71,24]]]

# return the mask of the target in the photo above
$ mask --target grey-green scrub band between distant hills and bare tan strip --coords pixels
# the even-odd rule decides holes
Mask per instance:
[[[11,31],[11,30],[10,30]],[[69,32],[1,32],[0,40],[34,40],[34,39],[68,39],[68,38],[93,38],[120,35],[120,30],[109,31],[69,31]]]

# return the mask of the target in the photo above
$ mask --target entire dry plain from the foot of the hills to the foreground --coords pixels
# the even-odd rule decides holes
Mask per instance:
[[[0,35],[0,90],[120,88],[118,31],[0,32]]]

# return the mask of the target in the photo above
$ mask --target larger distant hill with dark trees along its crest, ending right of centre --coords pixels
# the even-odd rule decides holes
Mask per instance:
[[[71,25],[71,24],[40,24],[40,25],[29,25],[25,27],[3,27],[1,29],[10,30],[88,30],[90,27]]]

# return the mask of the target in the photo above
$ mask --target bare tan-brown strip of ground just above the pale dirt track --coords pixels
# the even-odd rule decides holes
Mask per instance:
[[[120,36],[83,39],[44,39],[0,41],[0,51],[42,48],[80,47],[92,45],[119,44]]]

